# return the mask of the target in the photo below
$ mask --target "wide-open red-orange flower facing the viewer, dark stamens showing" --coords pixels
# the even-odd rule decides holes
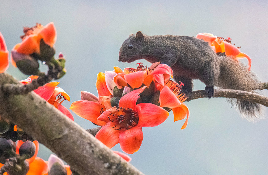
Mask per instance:
[[[143,140],[142,127],[154,127],[163,123],[168,112],[151,103],[139,103],[136,105],[138,94],[142,93],[146,86],[125,94],[119,100],[119,106],[105,110],[97,121],[105,124],[97,132],[96,138],[109,148],[120,144],[121,149],[132,154],[140,148]]]

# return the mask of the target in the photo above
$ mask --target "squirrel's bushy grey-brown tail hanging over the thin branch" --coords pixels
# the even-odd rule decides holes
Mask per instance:
[[[254,90],[261,89],[261,82],[248,67],[240,61],[228,56],[219,56],[220,74],[218,86],[223,89],[243,90],[257,93]],[[248,120],[261,118],[262,106],[258,103],[229,98],[228,101],[236,106],[240,114]]]

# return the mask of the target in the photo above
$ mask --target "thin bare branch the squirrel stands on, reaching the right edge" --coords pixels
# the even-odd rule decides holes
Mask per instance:
[[[263,106],[268,107],[268,98],[252,93],[252,92],[247,92],[247,91],[241,91],[241,90],[229,90],[229,89],[215,89],[213,97],[219,98],[238,98],[238,99],[243,99],[243,100],[248,100],[251,102],[259,103],[262,104]],[[195,100],[198,98],[207,98],[207,95],[205,93],[205,90],[197,90],[193,91],[188,94],[188,99],[186,100],[187,102],[191,100]]]

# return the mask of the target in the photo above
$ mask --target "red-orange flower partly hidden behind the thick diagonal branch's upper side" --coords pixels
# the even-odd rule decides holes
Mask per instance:
[[[33,79],[37,78],[38,76],[30,76],[26,80],[22,80],[20,82],[27,84],[31,83]],[[65,106],[62,106],[62,102],[64,100],[68,100],[70,102],[70,96],[62,88],[57,87],[59,83],[60,82],[52,81],[33,91],[74,121],[74,117],[70,111]]]

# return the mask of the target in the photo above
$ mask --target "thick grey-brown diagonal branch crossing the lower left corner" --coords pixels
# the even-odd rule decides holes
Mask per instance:
[[[14,82],[11,76],[0,74],[0,85]],[[33,92],[25,95],[0,92],[0,115],[31,133],[79,174],[143,174]]]

